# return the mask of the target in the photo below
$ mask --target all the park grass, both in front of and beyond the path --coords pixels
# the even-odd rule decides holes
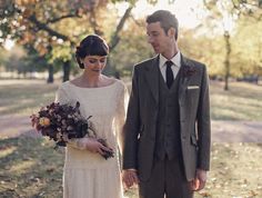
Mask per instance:
[[[0,115],[29,116],[53,101],[58,85],[0,81]],[[262,120],[262,87],[211,82],[213,120]],[[7,138],[0,133],[0,197],[62,197],[63,149],[43,138]],[[206,188],[195,198],[262,197],[262,143],[213,143]],[[138,189],[125,192],[138,198]]]

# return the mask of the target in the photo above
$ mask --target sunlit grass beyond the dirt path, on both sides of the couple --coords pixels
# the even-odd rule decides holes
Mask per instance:
[[[0,115],[31,115],[53,101],[58,83],[44,81],[0,80]],[[262,86],[211,82],[211,118],[213,120],[262,120]]]

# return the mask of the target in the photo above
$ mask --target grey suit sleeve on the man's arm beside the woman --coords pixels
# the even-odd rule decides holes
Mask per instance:
[[[134,67],[132,77],[132,89],[130,93],[127,120],[122,132],[123,142],[123,169],[137,169],[138,160],[138,132],[140,125],[139,115],[139,87],[138,87],[138,71]]]

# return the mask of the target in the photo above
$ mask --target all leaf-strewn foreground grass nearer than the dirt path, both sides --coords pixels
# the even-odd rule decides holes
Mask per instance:
[[[0,145],[0,197],[62,197],[63,149],[29,137]],[[213,143],[209,181],[195,198],[262,197],[261,159],[262,143]],[[137,188],[125,196],[138,198]]]

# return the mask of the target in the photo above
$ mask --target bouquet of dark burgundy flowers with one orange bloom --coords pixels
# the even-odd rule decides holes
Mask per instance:
[[[32,115],[32,127],[40,131],[42,136],[47,136],[50,140],[56,141],[56,147],[66,147],[69,139],[90,137],[95,138],[103,146],[108,147],[105,139],[97,137],[95,130],[89,118],[81,116],[80,102],[75,107],[69,105],[60,105],[52,102],[46,108],[41,108],[38,115]],[[113,157],[113,151],[103,150],[104,159]]]

